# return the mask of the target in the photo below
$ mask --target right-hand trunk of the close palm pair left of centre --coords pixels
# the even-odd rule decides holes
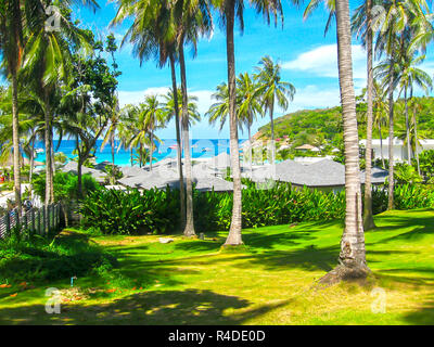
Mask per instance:
[[[183,56],[183,40],[179,44],[179,65],[181,68],[181,92],[182,92],[182,138],[183,138],[183,153],[186,158],[186,228],[183,234],[188,237],[194,236],[194,217],[193,217],[193,187],[192,187],[192,172],[191,172],[191,153],[190,153],[190,136],[189,136],[189,110],[188,110],[188,94],[187,94],[187,78],[186,78],[186,61]],[[176,92],[176,91],[175,91]]]

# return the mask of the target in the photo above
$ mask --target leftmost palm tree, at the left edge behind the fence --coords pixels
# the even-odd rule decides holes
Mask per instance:
[[[15,203],[21,214],[21,169],[18,139],[18,83],[17,74],[22,65],[24,38],[23,17],[18,0],[5,0],[0,4],[0,52],[5,75],[12,81],[12,139],[14,164]]]

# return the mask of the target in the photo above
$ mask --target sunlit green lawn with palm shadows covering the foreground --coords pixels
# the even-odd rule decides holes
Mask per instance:
[[[119,260],[108,279],[77,279],[76,300],[60,314],[46,313],[44,291],[71,288],[69,279],[0,287],[0,323],[434,323],[434,211],[384,213],[375,222],[366,233],[374,278],[321,290],[312,284],[336,265],[341,221],[245,230],[239,253],[220,253],[224,232],[205,241],[176,235],[170,244],[154,235],[92,237]],[[371,310],[375,287],[385,291],[385,313]]]

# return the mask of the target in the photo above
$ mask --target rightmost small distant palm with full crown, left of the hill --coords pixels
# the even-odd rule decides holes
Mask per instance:
[[[275,144],[275,102],[278,102],[279,107],[283,111],[288,108],[289,100],[292,101],[295,94],[295,87],[290,82],[281,80],[280,65],[273,63],[270,56],[264,56],[259,62],[260,67],[256,67],[257,74],[255,81],[259,85],[259,92],[263,98],[263,105],[270,114],[271,126],[271,163],[276,162],[276,144]]]

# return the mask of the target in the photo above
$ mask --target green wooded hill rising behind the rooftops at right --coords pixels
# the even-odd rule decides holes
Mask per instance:
[[[434,138],[434,98],[413,98],[419,108],[417,112],[418,132],[425,138]],[[404,101],[395,104],[395,132],[405,129]],[[412,110],[410,110],[410,120]],[[366,103],[357,104],[359,138],[366,138]],[[387,126],[382,126],[382,136],[386,138]],[[340,143],[343,139],[342,107],[303,110],[275,119],[276,138],[288,137],[294,146],[303,143],[315,145]],[[270,137],[270,124],[259,128],[256,139]],[[379,129],[374,126],[373,137],[379,138]]]

